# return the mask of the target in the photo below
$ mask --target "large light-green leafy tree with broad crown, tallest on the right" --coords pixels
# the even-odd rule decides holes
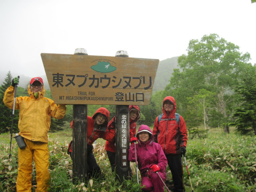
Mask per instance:
[[[228,104],[233,102],[232,86],[237,84],[240,68],[250,60],[250,54],[240,53],[238,46],[217,34],[204,35],[200,41],[190,40],[187,51],[187,55],[178,58],[182,72],[174,70],[165,94],[174,96],[183,114],[187,109],[187,98],[200,89],[216,93],[212,110],[221,114],[219,121],[224,131],[229,132],[229,126],[224,122],[231,116]]]

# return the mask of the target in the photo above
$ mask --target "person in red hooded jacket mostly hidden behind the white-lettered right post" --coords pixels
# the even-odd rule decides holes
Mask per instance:
[[[136,135],[136,121],[140,118],[140,108],[137,105],[129,106],[129,116],[130,116],[130,139]],[[108,128],[114,128],[116,125],[116,117],[108,123]],[[111,170],[114,172],[116,164],[116,145],[115,142],[106,141],[105,150],[108,154],[108,160],[110,161]]]

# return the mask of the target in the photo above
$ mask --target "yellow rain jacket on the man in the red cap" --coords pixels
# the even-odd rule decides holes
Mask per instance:
[[[20,110],[19,135],[31,140],[48,143],[48,131],[51,124],[51,116],[61,119],[66,113],[66,105],[54,104],[54,101],[44,97],[45,89],[39,92],[36,99],[28,85],[29,96],[16,97],[15,109]],[[4,104],[13,109],[14,87],[10,86],[4,93]]]

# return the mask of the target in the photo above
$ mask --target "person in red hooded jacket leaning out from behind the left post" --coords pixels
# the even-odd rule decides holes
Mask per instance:
[[[93,142],[98,138],[104,140],[114,141],[115,130],[114,128],[108,129],[109,111],[104,108],[98,108],[92,117],[87,116],[87,163],[88,175],[98,178],[100,176],[100,167],[98,166],[93,150]],[[73,121],[71,122],[73,128]],[[68,146],[68,154],[72,157],[72,141]]]

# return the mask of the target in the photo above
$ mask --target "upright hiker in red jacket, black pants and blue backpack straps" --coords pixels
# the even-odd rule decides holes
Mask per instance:
[[[164,98],[162,111],[161,120],[158,121],[157,116],[154,123],[154,141],[159,143],[164,150],[168,166],[172,172],[175,191],[182,192],[181,155],[186,153],[188,140],[186,123],[180,116],[179,124],[177,124],[175,116],[176,102],[173,97],[167,96]]]

